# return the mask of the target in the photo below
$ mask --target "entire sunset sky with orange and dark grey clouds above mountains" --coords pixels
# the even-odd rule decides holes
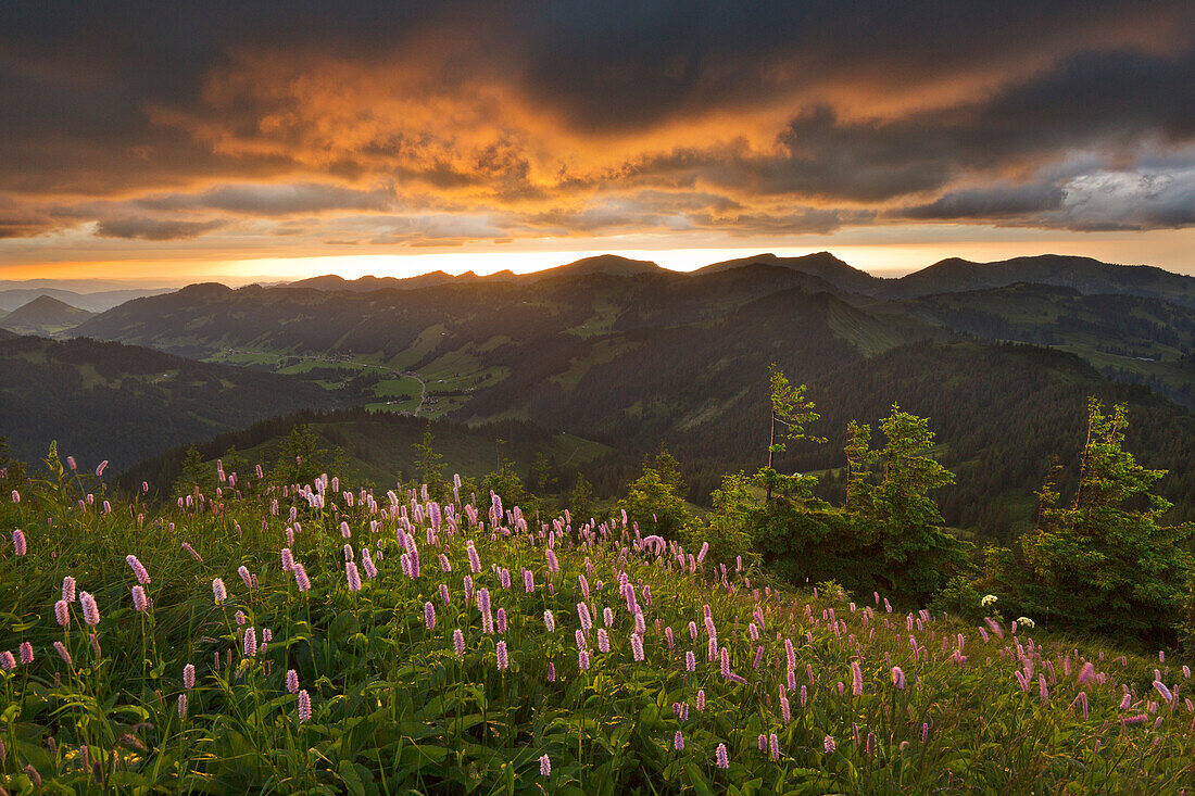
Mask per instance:
[[[0,5],[0,280],[1195,274],[1195,4]]]

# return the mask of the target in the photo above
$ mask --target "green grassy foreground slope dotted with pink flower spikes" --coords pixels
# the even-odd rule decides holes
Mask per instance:
[[[419,549],[422,569],[407,577],[390,513],[370,514],[366,501],[344,509],[332,495],[324,510],[298,507],[302,531],[289,544],[312,582],[300,593],[277,552],[288,544],[293,494],[278,516],[265,510],[271,496],[252,494],[247,482],[246,502],[216,512],[197,504],[158,515],[118,503],[103,514],[102,501],[80,509],[78,494],[97,488],[88,480],[61,492],[26,491],[20,504],[0,508],[0,522],[25,527],[29,540],[24,557],[7,541],[0,547],[0,580],[12,584],[0,598],[7,617],[0,649],[29,641],[35,653],[31,665],[0,673],[10,706],[0,727],[8,748],[0,783],[10,791],[29,788],[26,765],[43,780],[82,789],[93,774],[80,770],[80,743],[103,761],[96,773],[104,788],[229,794],[1021,794],[1064,785],[1176,794],[1195,776],[1189,708],[1181,694],[1173,710],[1156,706],[1150,686],[1158,667],[1185,691],[1177,661],[1121,657],[1048,632],[1011,636],[1007,624],[1003,637],[985,638],[940,617],[872,613],[870,596],[853,605],[826,593],[753,592],[733,572],[723,588],[710,562],[691,576],[670,553],[657,561],[620,532],[563,532],[553,572],[539,533],[491,535],[462,521],[460,532],[442,528],[429,540],[416,528],[409,545]],[[142,512],[141,525],[130,521]],[[378,577],[364,577],[356,593],[345,578],[341,520],[351,544],[368,545],[378,563]],[[381,523],[375,533],[370,521]],[[180,549],[184,541],[202,562]],[[502,610],[504,632],[484,632],[466,600],[467,541],[480,563],[473,586]],[[354,553],[357,565],[362,551]],[[152,577],[153,608],[145,617],[130,602],[127,553]],[[441,553],[451,574],[441,570]],[[240,565],[256,576],[252,588],[238,578]],[[617,589],[624,567],[645,620],[642,661],[632,649],[633,616]],[[502,588],[494,568],[510,570],[513,588]],[[523,589],[523,569],[533,574],[533,592]],[[54,623],[66,575],[98,601],[94,648],[78,606],[66,633]],[[219,606],[214,577],[229,593]],[[437,596],[441,584],[447,605]],[[639,586],[650,587],[650,596]],[[598,627],[576,636],[582,601],[600,627],[609,624],[609,651],[599,650]],[[428,602],[434,627],[424,619]],[[707,661],[703,606],[742,684]],[[601,619],[605,608],[611,623]],[[266,649],[244,651],[238,613],[258,642],[270,630]],[[753,618],[762,622],[758,642]],[[458,630],[461,655],[453,650]],[[791,675],[784,639],[793,643]],[[66,642],[73,666],[55,655],[53,641]],[[578,641],[589,650],[588,671]],[[1084,659],[1095,679],[1079,682]],[[852,696],[852,662],[860,667],[859,696]],[[190,690],[185,663],[196,667]],[[890,666],[903,669],[909,687],[894,687]],[[284,686],[290,668],[312,703],[306,722],[296,717],[299,697]],[[1015,676],[1024,669],[1032,673],[1028,691]],[[1129,690],[1123,709],[1122,685]],[[785,694],[791,717],[779,702]],[[1141,723],[1128,723],[1138,716]],[[675,748],[678,733],[684,751]],[[774,761],[758,748],[761,734],[776,735]],[[725,770],[715,763],[719,743]],[[541,755],[551,761],[547,774]]]

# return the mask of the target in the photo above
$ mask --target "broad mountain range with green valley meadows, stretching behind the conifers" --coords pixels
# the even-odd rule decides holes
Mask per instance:
[[[664,442],[698,502],[766,458],[776,363],[808,385],[822,415],[810,431],[831,440],[791,446],[782,467],[821,472],[834,496],[846,423],[899,403],[931,418],[958,473],[942,490],[948,521],[1001,538],[1029,521],[1050,457],[1081,442],[1092,394],[1129,402],[1130,443],[1173,471],[1160,489],[1195,516],[1195,416],[1177,405],[1195,406],[1193,284],[1055,256],[944,261],[895,280],[828,252],[693,273],[600,256],[522,276],[192,284],[69,333],[292,376],[341,405],[531,421],[606,446],[583,469],[607,494]]]

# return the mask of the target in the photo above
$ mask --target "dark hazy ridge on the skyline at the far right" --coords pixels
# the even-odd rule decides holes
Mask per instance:
[[[882,295],[908,299],[934,293],[981,290],[1030,282],[1074,288],[1079,293],[1121,293],[1165,299],[1195,307],[1195,277],[1152,265],[1111,265],[1090,257],[1041,255],[993,263],[951,257],[929,268],[885,281]]]

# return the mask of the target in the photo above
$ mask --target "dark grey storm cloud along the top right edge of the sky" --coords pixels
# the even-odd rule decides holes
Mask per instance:
[[[1181,0],[570,0],[529,22],[525,80],[583,129],[626,129],[834,81],[915,90],[1183,25]]]

